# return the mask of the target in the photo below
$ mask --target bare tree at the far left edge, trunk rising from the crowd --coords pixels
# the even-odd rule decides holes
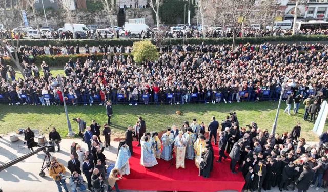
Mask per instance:
[[[10,15],[10,12],[12,15]],[[0,0],[0,23],[4,25],[5,30],[8,33],[9,39],[6,35],[0,32],[0,45],[6,49],[8,56],[15,63],[16,68],[24,74],[22,66],[19,61],[19,39],[22,35],[21,31],[15,32],[18,36],[17,40],[13,39],[12,32],[16,26],[23,25],[22,18],[22,2],[14,0]],[[25,76],[23,75],[25,79]]]

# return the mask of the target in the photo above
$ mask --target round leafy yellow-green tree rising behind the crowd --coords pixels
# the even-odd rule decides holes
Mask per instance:
[[[136,41],[132,46],[133,60],[136,62],[157,60],[157,48],[149,40]]]

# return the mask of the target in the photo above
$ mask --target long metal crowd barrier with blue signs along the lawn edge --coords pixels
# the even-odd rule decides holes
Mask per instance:
[[[283,94],[285,99],[292,90],[286,90]],[[236,102],[236,101],[268,101],[268,100],[279,100],[281,90],[262,90],[260,94],[255,91],[239,91],[230,93],[215,93],[215,92],[198,92],[198,93],[157,93],[157,94],[106,94],[106,98],[99,94],[84,94],[84,95],[73,95],[65,94],[65,101],[67,104],[78,104],[78,105],[89,105],[89,104],[101,104],[110,100],[112,104],[185,104],[185,103],[210,103],[217,102]],[[313,90],[308,90],[303,94],[307,95],[314,94]],[[1,93],[0,103],[9,104],[63,104],[60,100],[59,95],[53,94],[16,94],[16,93]]]

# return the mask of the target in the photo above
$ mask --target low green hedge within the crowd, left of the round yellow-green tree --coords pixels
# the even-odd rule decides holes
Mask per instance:
[[[95,61],[103,60],[103,54],[94,54],[95,55]],[[128,57],[128,53],[123,53],[124,57]],[[112,58],[114,54],[111,55]],[[133,59],[133,56],[130,54],[130,56]],[[35,57],[34,63],[37,66],[40,66],[42,61],[45,61],[50,67],[64,67],[65,63],[69,61],[69,59],[72,58],[73,61],[76,61],[78,58],[82,60],[82,62],[85,62],[87,60],[86,54],[75,54],[75,55],[37,55]],[[12,60],[10,60],[9,57],[4,58],[5,65],[11,65],[14,66],[14,63]]]

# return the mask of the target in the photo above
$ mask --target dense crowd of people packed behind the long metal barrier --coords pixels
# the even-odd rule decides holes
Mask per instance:
[[[46,47],[47,54],[53,54],[51,46]],[[117,51],[122,49],[114,47],[116,54],[111,56],[106,45],[99,47],[103,59],[96,60],[86,45],[86,60],[69,59],[65,64],[62,83],[67,98],[61,96],[49,65],[42,62],[42,76],[33,62],[35,51],[22,47],[25,80],[15,78],[14,69],[2,63],[0,100],[9,105],[60,104],[63,99],[73,105],[108,100],[137,105],[275,100],[291,93],[302,94],[303,99],[321,92],[322,98],[327,96],[328,46],[319,43],[245,44],[235,50],[229,45],[168,45],[160,48],[158,60],[141,65]],[[285,75],[289,82],[281,93]]]

